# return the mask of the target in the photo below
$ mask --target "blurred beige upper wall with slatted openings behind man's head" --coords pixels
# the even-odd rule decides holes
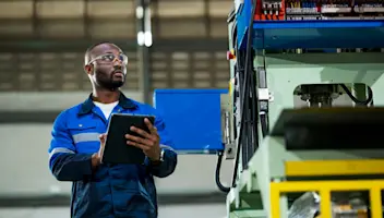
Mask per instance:
[[[152,90],[228,86],[231,5],[232,0],[152,0]],[[88,90],[82,58],[99,40],[125,50],[127,88],[139,90],[135,1],[1,0],[0,92]]]

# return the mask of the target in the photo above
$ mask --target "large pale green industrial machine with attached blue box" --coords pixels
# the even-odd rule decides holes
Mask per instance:
[[[236,0],[229,88],[155,92],[179,153],[235,162],[229,218],[383,217],[383,5]]]

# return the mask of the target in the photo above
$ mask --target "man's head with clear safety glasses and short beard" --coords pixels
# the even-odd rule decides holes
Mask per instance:
[[[112,44],[96,46],[91,52],[87,73],[96,86],[115,90],[121,87],[127,76],[127,57]]]

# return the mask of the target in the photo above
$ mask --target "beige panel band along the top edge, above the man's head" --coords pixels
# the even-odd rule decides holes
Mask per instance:
[[[232,1],[152,1],[157,37],[224,37]],[[133,0],[2,0],[0,37],[134,38]]]

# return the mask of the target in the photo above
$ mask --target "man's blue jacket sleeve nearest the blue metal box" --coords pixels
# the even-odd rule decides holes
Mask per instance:
[[[161,117],[156,116],[155,126],[160,136],[160,148],[164,150],[164,161],[159,165],[152,166],[151,170],[155,177],[166,178],[175,171],[178,162],[178,155],[172,148],[173,143],[168,135]]]

